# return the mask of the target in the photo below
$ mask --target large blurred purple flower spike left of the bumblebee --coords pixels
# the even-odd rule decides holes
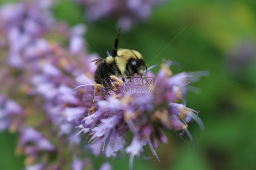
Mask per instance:
[[[4,82],[0,88],[0,130],[9,128],[20,134],[17,153],[27,155],[28,170],[57,170],[65,166],[82,170],[90,162],[78,158],[78,149],[63,148],[76,134],[73,126],[80,123],[78,115],[86,108],[80,107],[83,112],[78,113],[67,106],[81,105],[71,88],[76,84],[74,77],[85,72],[93,77],[96,66],[87,63],[97,55],[84,51],[83,25],[69,29],[65,23],[53,22],[53,5],[51,0],[35,0],[0,7],[0,50],[5,54],[0,60],[0,80]],[[52,35],[56,39],[52,40]],[[69,47],[62,45],[65,41]],[[73,115],[74,111],[77,114]],[[56,140],[59,144],[53,145]],[[59,150],[61,155],[57,154],[56,159],[62,165],[50,160],[50,155]],[[68,157],[73,164],[68,164]]]

